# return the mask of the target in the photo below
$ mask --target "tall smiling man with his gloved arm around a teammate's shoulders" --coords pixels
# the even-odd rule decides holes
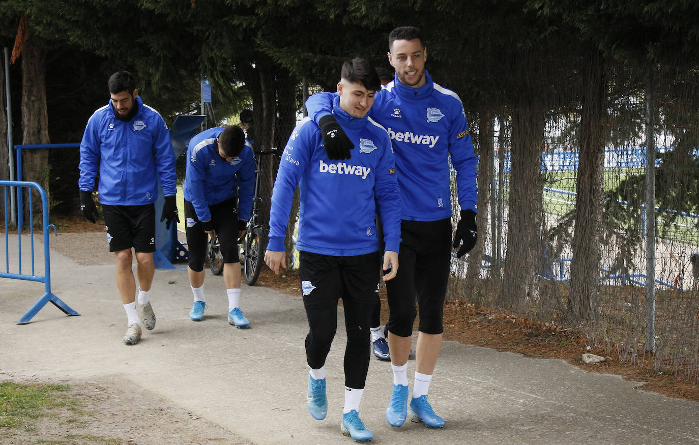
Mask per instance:
[[[386,409],[391,426],[408,416],[408,357],[417,299],[420,321],[415,384],[410,401],[413,421],[442,428],[445,421],[427,401],[428,388],[442,345],[442,313],[452,247],[463,256],[477,238],[476,163],[466,112],[459,96],[433,82],[425,70],[427,48],[419,29],[399,27],[389,34],[388,59],[393,81],[377,92],[369,116],[386,127],[396,155],[401,184],[401,269],[387,282],[388,342],[394,391]],[[308,115],[321,126],[331,159],[352,159],[355,145],[336,129],[330,104],[333,95],[317,93],[306,101]],[[354,153],[352,153],[354,152]],[[452,244],[449,161],[456,170],[461,219]],[[383,216],[383,215],[381,215]]]

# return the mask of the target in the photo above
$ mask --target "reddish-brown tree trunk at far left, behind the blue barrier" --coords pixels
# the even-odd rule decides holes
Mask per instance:
[[[46,110],[45,50],[27,41],[22,50],[22,144],[48,144],[48,112]],[[22,152],[22,180],[35,181],[50,194],[48,149],[26,149]],[[38,202],[37,202],[38,201]],[[41,209],[41,200],[34,199],[34,209]],[[50,207],[50,205],[49,205]],[[24,204],[27,209],[27,204]]]

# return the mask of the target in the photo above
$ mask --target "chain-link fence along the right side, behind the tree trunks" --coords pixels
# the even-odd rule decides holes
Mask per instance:
[[[593,159],[598,177],[582,165],[590,159],[582,159],[579,112],[549,112],[540,177],[526,191],[540,200],[534,216],[511,208],[522,208],[513,202],[512,158],[519,147],[513,148],[512,118],[475,117],[479,175],[487,178],[479,180],[479,242],[466,261],[454,258],[449,296],[580,328],[606,355],[699,381],[699,126],[696,110],[687,110],[693,97],[678,97],[694,91],[686,82],[612,101],[600,130],[606,143]],[[493,156],[484,156],[484,144],[493,145]],[[588,194],[581,202],[579,191],[591,182],[598,184],[598,200]],[[512,228],[532,217],[538,237],[524,256],[532,263],[512,264],[523,258],[511,250]],[[575,231],[586,226],[596,234],[576,247]],[[584,267],[575,270],[576,261]],[[520,268],[526,275],[515,279],[533,285],[513,295],[512,270]],[[580,295],[587,288],[576,287],[576,280],[590,277],[590,295]],[[575,313],[576,300],[586,304],[584,316]]]

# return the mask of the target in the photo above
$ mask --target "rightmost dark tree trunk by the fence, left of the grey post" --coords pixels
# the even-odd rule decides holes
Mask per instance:
[[[600,251],[604,156],[607,125],[607,82],[600,52],[591,48],[584,63],[580,154],[575,199],[575,231],[570,263],[568,309],[572,321],[600,315]]]

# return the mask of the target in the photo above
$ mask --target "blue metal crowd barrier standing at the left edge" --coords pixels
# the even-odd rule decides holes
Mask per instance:
[[[46,198],[46,192],[41,188],[36,182],[27,181],[0,181],[0,187],[4,189],[4,213],[5,213],[5,272],[0,272],[0,278],[13,278],[13,279],[26,279],[33,282],[41,282],[45,284],[45,293],[41,298],[39,298],[34,306],[27,311],[26,314],[22,316],[21,319],[16,321],[17,324],[27,324],[32,317],[36,315],[37,312],[41,310],[42,307],[48,302],[52,302],[56,307],[61,309],[67,315],[80,315],[75,312],[69,305],[66,305],[60,298],[55,296],[51,292],[51,261],[50,261],[50,250],[49,250],[49,239],[48,231],[52,225],[48,224],[48,202]],[[29,245],[31,248],[31,275],[22,274],[22,207],[17,206],[17,251],[18,251],[18,268],[17,273],[10,273],[10,231],[8,230],[8,189],[14,187],[17,190],[17,198],[22,196],[22,191],[24,188],[29,189]],[[44,245],[44,275],[37,276],[34,270],[34,227],[31,221],[34,221],[34,210],[31,205],[31,188],[34,188],[41,195],[41,209],[43,217],[43,245]],[[18,203],[21,200],[17,200]],[[54,231],[56,228],[54,227]]]

